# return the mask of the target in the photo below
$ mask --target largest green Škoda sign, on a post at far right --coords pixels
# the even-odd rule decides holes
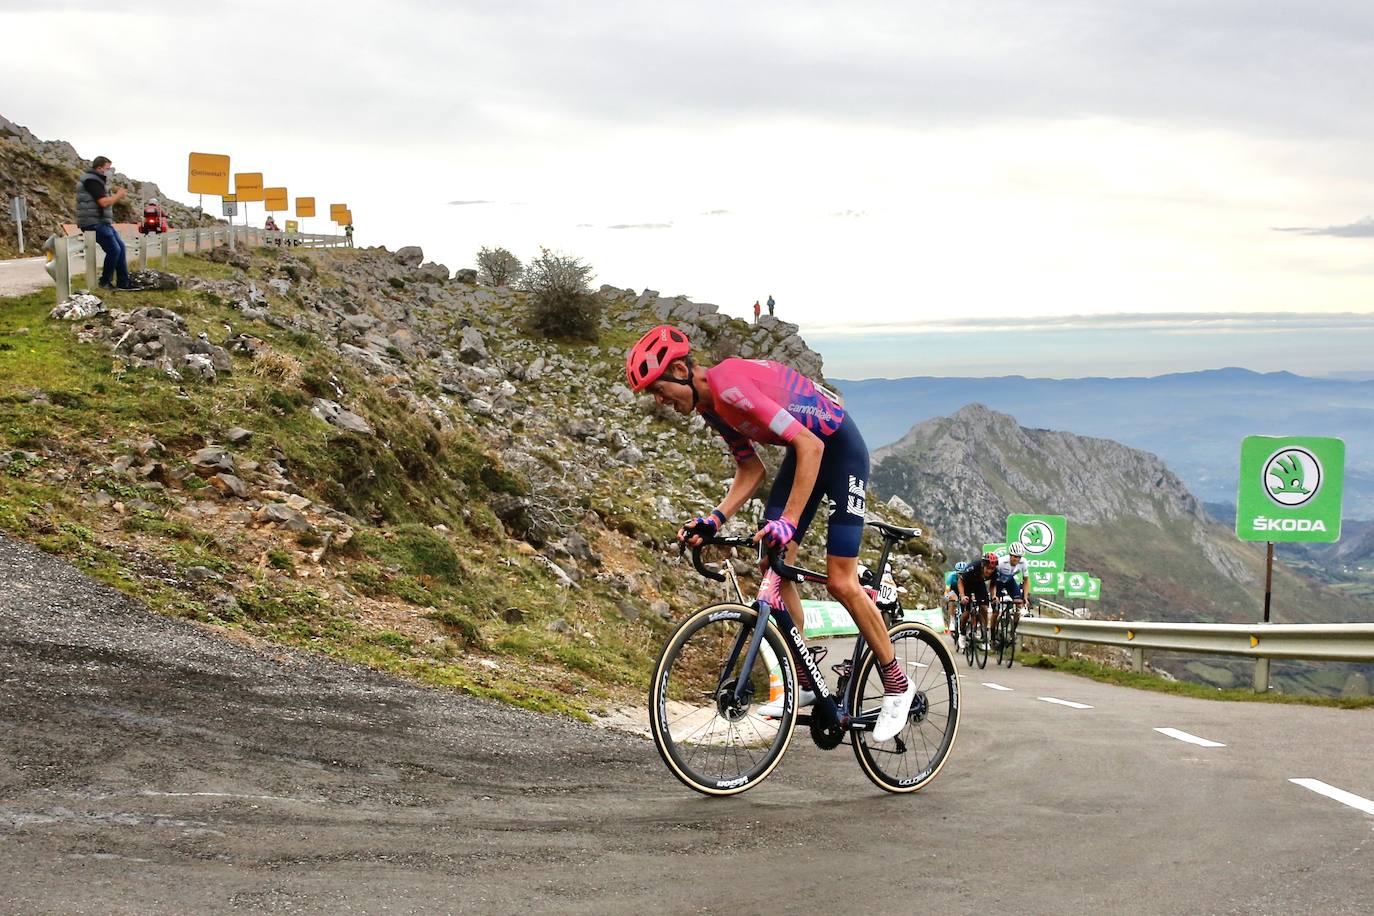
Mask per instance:
[[[1242,541],[1338,541],[1344,477],[1344,439],[1245,437],[1235,536]]]

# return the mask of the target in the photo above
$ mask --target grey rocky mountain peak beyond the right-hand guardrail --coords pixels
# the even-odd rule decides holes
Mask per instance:
[[[930,520],[951,555],[1000,541],[1013,512],[1069,519],[1068,564],[1102,577],[1105,612],[1142,619],[1254,621],[1263,551],[1208,518],[1154,455],[1110,439],[1032,430],[973,404],[914,426],[875,455],[874,485]],[[1369,619],[1371,608],[1287,569],[1275,619]]]

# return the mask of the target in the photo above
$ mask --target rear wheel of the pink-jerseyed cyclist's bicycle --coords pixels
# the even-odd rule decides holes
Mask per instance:
[[[892,628],[892,647],[907,677],[916,683],[911,714],[896,737],[874,742],[872,732],[853,732],[855,757],[874,786],[889,792],[923,788],[944,766],[959,732],[959,676],[954,655],[940,637],[921,623]],[[882,677],[872,650],[859,661],[855,681],[856,715],[877,717],[882,706]]]

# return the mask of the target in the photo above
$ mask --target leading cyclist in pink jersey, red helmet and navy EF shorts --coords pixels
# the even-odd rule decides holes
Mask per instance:
[[[710,368],[698,365],[687,335],[669,324],[660,324],[629,349],[625,376],[631,389],[649,391],[677,413],[701,413],[735,456],[738,467],[725,497],[708,515],[683,525],[680,541],[697,547],[710,540],[758,489],[767,471],[754,452],[756,442],[787,449],[768,494],[767,525],[754,534],[756,542],[786,548],[786,562],[796,563],[797,545],[820,499],[829,497],[833,508],[826,536],[826,589],[849,611],[878,658],[883,700],[872,736],[890,740],[911,711],[916,684],[901,670],[882,615],[859,584],[868,448],[853,417],[834,396],[782,363],[730,358]],[[775,606],[786,606],[801,633],[807,617],[797,585],[769,570],[764,586]],[[809,673],[798,670],[797,683],[798,706],[815,703],[816,685]]]

